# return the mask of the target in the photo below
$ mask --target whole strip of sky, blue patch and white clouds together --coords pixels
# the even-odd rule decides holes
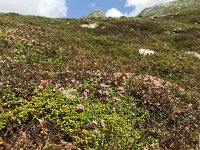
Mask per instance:
[[[136,16],[144,8],[173,0],[0,0],[0,12],[51,18],[79,18],[101,9],[107,17]]]

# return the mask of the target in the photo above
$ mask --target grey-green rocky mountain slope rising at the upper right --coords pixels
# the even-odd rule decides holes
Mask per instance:
[[[144,9],[139,16],[161,17],[166,15],[176,15],[185,12],[199,12],[200,0],[175,0],[167,4],[160,4]]]

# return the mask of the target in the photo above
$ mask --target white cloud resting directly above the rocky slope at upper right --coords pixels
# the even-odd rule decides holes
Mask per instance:
[[[131,13],[129,13],[128,16],[136,16],[145,8],[152,7],[154,5],[158,5],[161,3],[171,2],[171,1],[174,1],[174,0],[127,0],[125,6],[135,7],[135,9]]]

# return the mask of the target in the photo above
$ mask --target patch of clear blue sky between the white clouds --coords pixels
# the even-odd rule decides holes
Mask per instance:
[[[106,12],[110,8],[117,8],[123,13],[131,12],[133,7],[124,7],[125,3],[126,0],[68,0],[67,17],[77,18],[85,16],[96,9]]]

